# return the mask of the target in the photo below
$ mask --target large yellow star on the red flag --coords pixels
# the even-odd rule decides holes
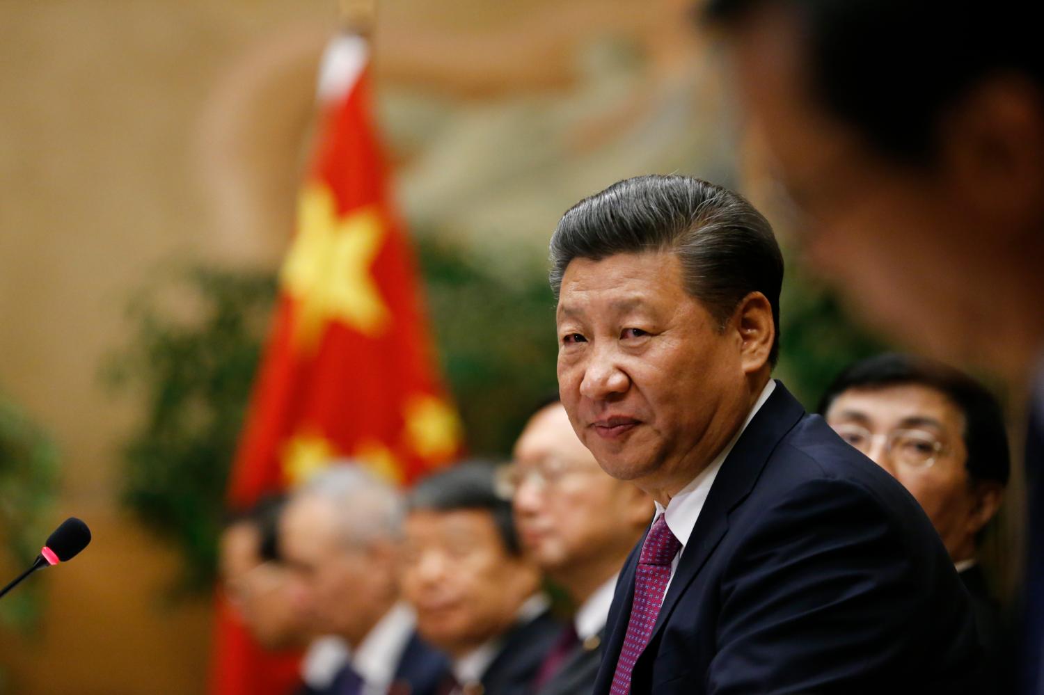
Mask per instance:
[[[314,348],[331,320],[378,336],[389,313],[370,266],[380,250],[384,226],[373,207],[338,217],[330,189],[311,184],[298,202],[298,233],[280,279],[298,301],[294,338]]]

